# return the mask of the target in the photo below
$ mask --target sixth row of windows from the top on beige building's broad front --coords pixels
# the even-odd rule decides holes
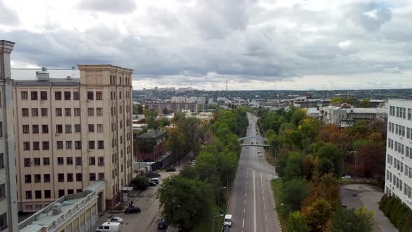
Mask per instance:
[[[34,183],[41,183],[41,174],[28,174],[24,175],[24,182],[29,184],[32,182],[31,177],[34,177]],[[65,178],[66,176],[66,178]],[[83,181],[82,173],[75,173],[75,179],[73,173],[57,173],[57,182],[81,182]],[[95,181],[96,180],[96,173],[89,173],[89,180]],[[98,180],[105,180],[105,173],[98,173]],[[50,183],[50,174],[43,174],[43,183]]]

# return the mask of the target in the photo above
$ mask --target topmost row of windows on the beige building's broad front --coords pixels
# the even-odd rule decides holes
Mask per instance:
[[[28,91],[21,91],[22,100],[29,100],[29,92]],[[71,91],[64,91],[63,94],[61,91],[54,91],[54,100],[61,100],[64,96],[64,100],[71,100]],[[38,100],[38,91],[31,91],[30,92],[30,100]],[[47,100],[47,91],[40,92],[40,100]],[[80,100],[80,92],[74,91],[73,92],[73,100]],[[88,91],[87,92],[87,100],[94,100],[94,92]],[[103,92],[96,91],[96,100],[103,100]]]

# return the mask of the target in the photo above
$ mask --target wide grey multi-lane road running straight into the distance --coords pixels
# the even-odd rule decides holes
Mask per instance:
[[[256,136],[256,116],[248,113],[249,126],[247,136]],[[246,139],[244,144],[261,144],[259,139]],[[239,166],[233,182],[232,196],[228,215],[233,215],[231,232],[273,232],[281,231],[270,180],[274,177],[274,168],[259,157],[263,147],[243,147]]]

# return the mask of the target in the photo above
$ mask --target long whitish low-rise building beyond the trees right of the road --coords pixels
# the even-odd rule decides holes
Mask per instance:
[[[323,122],[337,124],[340,128],[353,126],[360,120],[371,122],[374,119],[385,121],[388,118],[386,108],[345,108],[344,104],[339,106],[328,106],[323,108]]]

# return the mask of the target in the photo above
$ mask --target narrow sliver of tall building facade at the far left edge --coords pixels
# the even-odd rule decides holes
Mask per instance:
[[[10,73],[13,48],[13,42],[0,41],[0,231],[17,232],[13,79]]]

